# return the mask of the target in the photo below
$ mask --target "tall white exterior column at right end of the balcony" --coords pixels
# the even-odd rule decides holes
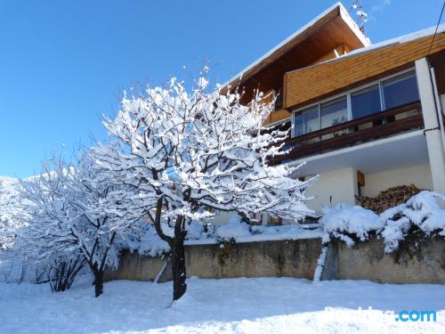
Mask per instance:
[[[425,58],[416,61],[417,84],[424,116],[426,144],[430,159],[433,190],[445,194],[445,148],[441,140],[441,126],[438,122],[434,87],[430,69]]]

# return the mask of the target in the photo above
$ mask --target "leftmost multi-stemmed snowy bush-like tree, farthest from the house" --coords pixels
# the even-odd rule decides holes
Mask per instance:
[[[54,291],[69,289],[85,265],[70,245],[68,226],[78,217],[72,206],[74,193],[68,188],[70,177],[61,159],[53,159],[44,163],[41,175],[21,181],[27,224],[18,231],[13,252],[35,265]]]

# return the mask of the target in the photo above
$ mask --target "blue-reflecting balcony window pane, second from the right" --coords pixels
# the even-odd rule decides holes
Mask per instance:
[[[378,84],[351,94],[352,118],[362,118],[381,110]]]

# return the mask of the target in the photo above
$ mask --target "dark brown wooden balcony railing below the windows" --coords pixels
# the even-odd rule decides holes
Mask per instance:
[[[283,150],[290,151],[272,158],[271,163],[309,157],[423,127],[420,102],[412,102],[276,143],[285,143]]]

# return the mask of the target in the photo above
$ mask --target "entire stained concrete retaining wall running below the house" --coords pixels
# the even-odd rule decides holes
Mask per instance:
[[[320,239],[246,242],[224,248],[187,246],[187,276],[285,276],[312,280],[320,250]],[[165,264],[166,258],[125,252],[117,271],[107,273],[106,280],[153,281]],[[399,258],[396,253],[384,253],[382,240],[359,242],[352,248],[347,248],[343,241],[333,241],[322,279],[445,284],[445,240],[426,241],[414,256],[405,250]],[[159,281],[169,280],[171,269],[166,265]]]

